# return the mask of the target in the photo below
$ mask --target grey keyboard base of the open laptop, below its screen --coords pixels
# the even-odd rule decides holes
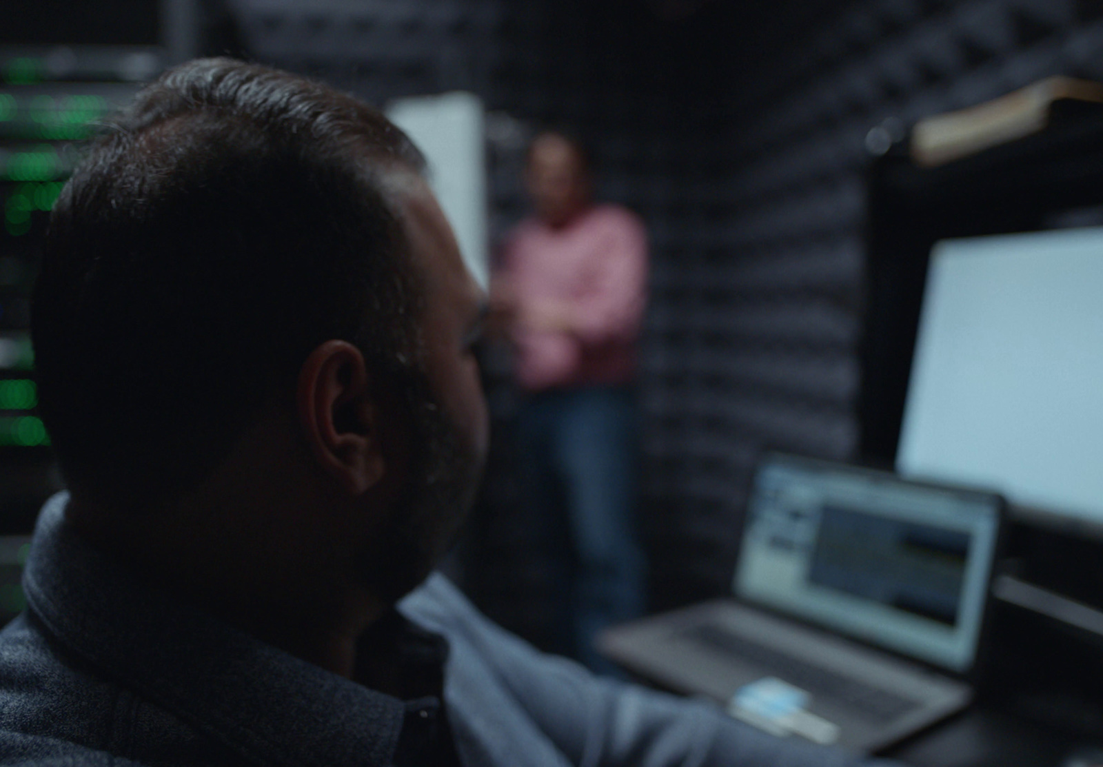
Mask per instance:
[[[775,735],[867,754],[971,699],[962,682],[733,599],[619,626],[598,645],[644,678]]]

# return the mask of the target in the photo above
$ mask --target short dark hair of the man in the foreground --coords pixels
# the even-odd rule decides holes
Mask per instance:
[[[57,201],[34,295],[67,483],[144,507],[194,485],[328,338],[408,370],[418,285],[381,174],[422,163],[362,101],[265,67],[143,90]]]

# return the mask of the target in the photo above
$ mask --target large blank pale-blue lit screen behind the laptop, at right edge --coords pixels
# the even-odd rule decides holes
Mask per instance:
[[[1103,227],[934,246],[897,469],[1103,523]]]

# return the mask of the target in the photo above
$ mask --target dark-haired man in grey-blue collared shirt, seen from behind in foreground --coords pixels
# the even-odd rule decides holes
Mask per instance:
[[[379,112],[150,85],[35,288],[67,493],[0,633],[0,764],[842,765],[542,656],[431,574],[486,449],[484,298]]]

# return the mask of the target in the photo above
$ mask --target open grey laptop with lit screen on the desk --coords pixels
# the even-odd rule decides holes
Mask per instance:
[[[999,496],[770,454],[733,599],[615,627],[609,658],[778,735],[870,753],[971,698]]]

